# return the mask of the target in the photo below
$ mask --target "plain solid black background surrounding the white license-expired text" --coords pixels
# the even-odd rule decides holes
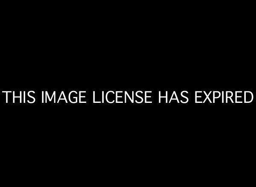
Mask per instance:
[[[193,96],[255,94],[247,7],[42,7],[3,13],[1,91],[152,90],[154,104],[2,102],[5,176],[131,184],[250,178],[255,101],[196,105]],[[183,90],[187,105],[157,104],[157,91]]]

